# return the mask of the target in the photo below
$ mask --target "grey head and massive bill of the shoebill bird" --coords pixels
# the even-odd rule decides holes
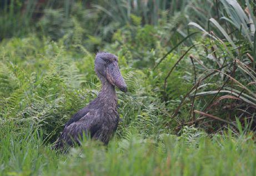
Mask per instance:
[[[116,55],[106,52],[97,53],[94,70],[99,77],[105,77],[112,86],[117,86],[123,92],[127,92],[126,82],[120,73]]]

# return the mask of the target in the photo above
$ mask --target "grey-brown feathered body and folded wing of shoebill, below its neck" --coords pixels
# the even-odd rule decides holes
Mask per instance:
[[[118,122],[119,115],[116,108],[109,108],[102,104],[101,100],[94,99],[65,124],[56,147],[63,148],[64,145],[81,144],[84,135],[107,144],[116,131]]]

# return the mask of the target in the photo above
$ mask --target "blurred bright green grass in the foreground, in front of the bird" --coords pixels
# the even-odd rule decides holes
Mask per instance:
[[[114,138],[108,146],[85,141],[64,155],[43,144],[31,127],[1,126],[1,175],[255,175],[256,145],[251,135],[208,137],[198,129],[180,137]]]

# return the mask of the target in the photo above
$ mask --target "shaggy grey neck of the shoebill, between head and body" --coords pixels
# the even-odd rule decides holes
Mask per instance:
[[[117,94],[115,87],[108,82],[108,80],[100,76],[102,87],[101,91],[98,94],[98,98],[102,101],[102,103],[106,103],[108,105],[113,105],[114,107],[117,106]]]

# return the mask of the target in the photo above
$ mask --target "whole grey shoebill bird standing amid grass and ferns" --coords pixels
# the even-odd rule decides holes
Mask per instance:
[[[84,135],[107,145],[116,132],[120,118],[115,88],[127,92],[127,84],[119,70],[118,57],[112,53],[98,52],[94,71],[102,84],[98,96],[68,120],[54,148],[81,145]]]

